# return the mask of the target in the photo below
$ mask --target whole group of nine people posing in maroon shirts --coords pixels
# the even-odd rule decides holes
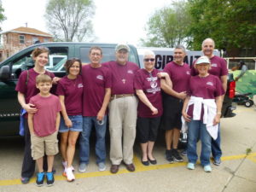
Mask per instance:
[[[142,148],[144,166],[157,164],[153,148],[161,127],[166,131],[166,160],[183,161],[177,151],[180,131],[188,126],[189,169],[195,169],[196,143],[201,139],[201,165],[211,172],[210,155],[220,164],[221,149],[219,119],[226,90],[227,68],[220,57],[213,55],[214,41],[202,43],[205,56],[195,61],[192,71],[183,62],[186,50],[178,45],[174,60],[164,71],[154,68],[154,52],[143,55],[144,68],[128,61],[130,48],[118,44],[116,61],[102,63],[102,49],[91,47],[90,63],[79,59],[67,60],[67,75],[61,79],[44,69],[49,50],[33,50],[35,65],[20,74],[16,90],[25,115],[25,154],[21,182],[28,183],[38,166],[37,185],[54,183],[54,155],[58,153],[57,133],[60,132],[60,151],[63,175],[73,181],[73,156],[79,138],[79,172],[85,172],[90,160],[90,132],[96,131],[96,164],[106,170],[105,134],[107,114],[110,133],[110,172],[119,172],[123,162],[130,172],[133,164],[133,145],[137,137]],[[194,76],[194,77],[191,77]],[[51,89],[52,86],[55,89]],[[55,95],[50,91],[55,90]],[[79,137],[79,133],[80,137]],[[46,154],[46,158],[44,157]]]

